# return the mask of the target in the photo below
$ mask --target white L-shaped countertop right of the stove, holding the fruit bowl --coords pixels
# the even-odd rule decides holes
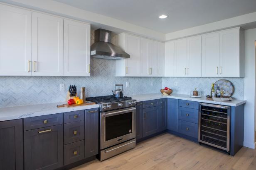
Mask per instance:
[[[207,100],[206,97],[193,98],[186,94],[175,94],[175,93],[172,93],[171,95],[162,95],[161,93],[150,93],[150,94],[133,95],[131,97],[133,99],[136,99],[137,102],[160,99],[160,98],[175,98],[175,99],[181,99],[181,100],[187,100],[187,101],[197,101],[202,103],[228,105],[228,106],[239,106],[246,103],[245,100],[236,100],[236,99],[233,99],[233,101],[217,102],[217,101]]]

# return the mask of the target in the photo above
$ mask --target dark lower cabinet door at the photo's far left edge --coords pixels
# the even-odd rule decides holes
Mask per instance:
[[[0,122],[0,170],[23,170],[22,119]]]

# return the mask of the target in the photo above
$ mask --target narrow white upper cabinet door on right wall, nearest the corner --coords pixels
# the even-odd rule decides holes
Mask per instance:
[[[165,77],[174,76],[174,41],[165,43]]]

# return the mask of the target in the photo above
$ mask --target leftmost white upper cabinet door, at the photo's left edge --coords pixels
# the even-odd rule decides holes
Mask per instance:
[[[31,75],[31,15],[0,5],[0,76]]]

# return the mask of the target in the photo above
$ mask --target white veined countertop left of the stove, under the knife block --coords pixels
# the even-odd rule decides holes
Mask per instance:
[[[66,108],[66,107],[57,108],[57,105],[62,105],[64,103],[65,102],[0,108],[0,121],[98,108],[97,104],[82,105],[82,106],[71,107],[71,108]]]

